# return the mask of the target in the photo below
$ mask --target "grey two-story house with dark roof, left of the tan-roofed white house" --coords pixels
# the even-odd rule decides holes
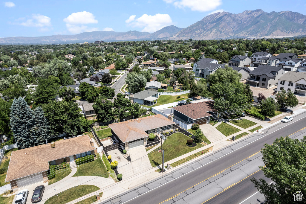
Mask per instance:
[[[285,74],[280,66],[260,65],[249,73],[246,83],[260,88],[270,88],[278,82],[279,77]]]

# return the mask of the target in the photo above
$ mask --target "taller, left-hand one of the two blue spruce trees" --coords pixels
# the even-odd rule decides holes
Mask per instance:
[[[34,146],[35,133],[32,127],[35,119],[27,102],[22,97],[15,98],[10,109],[10,124],[18,149]]]

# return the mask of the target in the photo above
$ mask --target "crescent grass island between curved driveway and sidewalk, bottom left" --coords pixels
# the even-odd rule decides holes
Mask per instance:
[[[71,202],[77,198],[80,198],[84,195],[92,193],[94,191],[98,191],[100,188],[93,185],[80,185],[73,188],[68,189],[62,193],[58,193],[57,195],[49,198],[45,204],[65,204],[67,202]]]

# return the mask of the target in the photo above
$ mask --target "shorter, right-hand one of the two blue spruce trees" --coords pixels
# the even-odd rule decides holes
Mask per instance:
[[[33,110],[33,131],[35,133],[34,145],[41,145],[51,138],[49,122],[46,119],[43,109],[39,106]]]

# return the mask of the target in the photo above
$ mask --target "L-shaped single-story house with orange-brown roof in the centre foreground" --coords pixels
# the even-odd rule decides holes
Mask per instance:
[[[174,122],[158,114],[113,123],[109,127],[115,141],[123,143],[121,148],[128,151],[135,147],[147,145],[147,138],[150,133],[157,133],[159,129],[164,132],[170,132],[170,130],[173,130],[174,125]]]

